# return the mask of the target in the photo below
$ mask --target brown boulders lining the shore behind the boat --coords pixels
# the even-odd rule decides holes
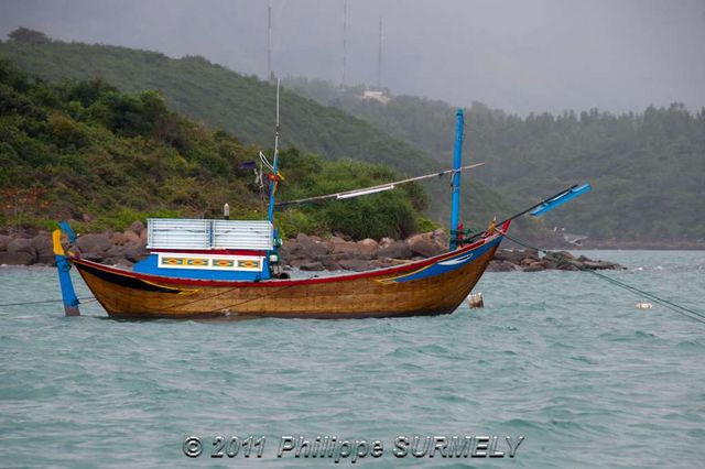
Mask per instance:
[[[147,230],[140,221],[118,232],[84,234],[77,246],[85,259],[111,265],[130,266],[148,255]],[[284,241],[280,249],[285,269],[302,271],[355,271],[399,265],[430,258],[447,249],[443,230],[414,234],[405,240],[383,238],[352,241],[341,236],[319,238],[300,233]],[[28,230],[9,234],[0,232],[0,265],[54,265],[51,233]],[[488,266],[489,272],[539,272],[545,270],[623,269],[621,265],[594,261],[566,251],[540,254],[535,250],[500,249]]]

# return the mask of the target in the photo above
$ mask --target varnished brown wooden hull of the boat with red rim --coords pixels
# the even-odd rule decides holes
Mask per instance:
[[[260,282],[143,275],[74,259],[78,272],[118,318],[365,318],[453,313],[501,242],[497,234],[423,261],[357,274]]]

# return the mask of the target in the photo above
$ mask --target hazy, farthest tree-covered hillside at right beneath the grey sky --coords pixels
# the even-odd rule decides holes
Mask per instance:
[[[453,108],[401,96],[388,105],[359,98],[362,88],[340,89],[319,80],[285,85],[335,106],[402,139],[440,161],[452,153]],[[546,216],[598,240],[705,241],[705,109],[649,107],[643,113],[508,116],[474,103],[465,142],[471,162],[487,162],[477,176],[517,206],[570,184],[594,190]]]

